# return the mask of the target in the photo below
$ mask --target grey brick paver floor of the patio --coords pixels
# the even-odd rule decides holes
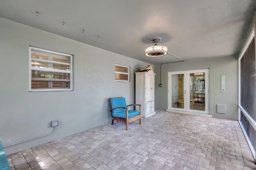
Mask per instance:
[[[238,121],[156,111],[7,156],[12,170],[256,169]]]

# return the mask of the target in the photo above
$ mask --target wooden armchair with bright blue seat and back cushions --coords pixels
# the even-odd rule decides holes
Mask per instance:
[[[109,98],[110,104],[110,112],[112,115],[112,123],[114,124],[114,120],[122,121],[126,123],[126,130],[128,130],[128,123],[136,120],[140,120],[141,122],[141,105],[140,104],[131,104],[128,106],[139,106],[139,111],[136,110],[128,110],[128,106],[126,105],[125,98]]]

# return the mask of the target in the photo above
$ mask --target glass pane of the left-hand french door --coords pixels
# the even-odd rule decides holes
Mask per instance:
[[[172,107],[184,109],[184,74],[172,74]]]

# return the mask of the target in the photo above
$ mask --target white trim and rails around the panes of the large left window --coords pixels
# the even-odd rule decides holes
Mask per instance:
[[[31,88],[31,72],[32,70],[35,70],[35,67],[32,67],[32,60],[36,60],[36,61],[44,61],[42,59],[32,59],[31,58],[31,49],[35,49],[35,50],[39,50],[39,51],[44,51],[44,52],[48,52],[48,53],[54,53],[54,54],[58,54],[58,55],[65,55],[70,57],[70,63],[65,63],[66,65],[70,66],[70,70],[58,70],[58,69],[51,69],[51,68],[36,68],[36,70],[42,70],[42,71],[50,71],[50,72],[63,72],[63,73],[70,73],[70,88],[46,88],[46,89],[32,89]],[[36,48],[36,47],[29,47],[29,92],[47,92],[47,91],[72,91],[73,90],[73,55],[69,55],[69,54],[65,54],[65,53],[59,53],[56,51],[51,51],[51,50],[45,50],[45,49],[40,49],[40,48]],[[58,64],[62,64],[61,62],[53,62],[53,61],[48,61],[49,63],[58,63]],[[39,80],[40,78],[38,78]],[[51,80],[51,79],[48,79]],[[54,79],[54,80],[58,80],[58,79]],[[62,81],[66,81],[66,80],[62,80]]]

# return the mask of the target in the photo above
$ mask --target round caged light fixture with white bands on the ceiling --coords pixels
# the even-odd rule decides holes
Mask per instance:
[[[150,39],[150,41],[154,42],[154,46],[147,47],[145,49],[145,55],[148,57],[161,57],[168,53],[168,49],[165,46],[157,45],[159,41],[161,41],[162,38],[160,37],[154,37]]]

